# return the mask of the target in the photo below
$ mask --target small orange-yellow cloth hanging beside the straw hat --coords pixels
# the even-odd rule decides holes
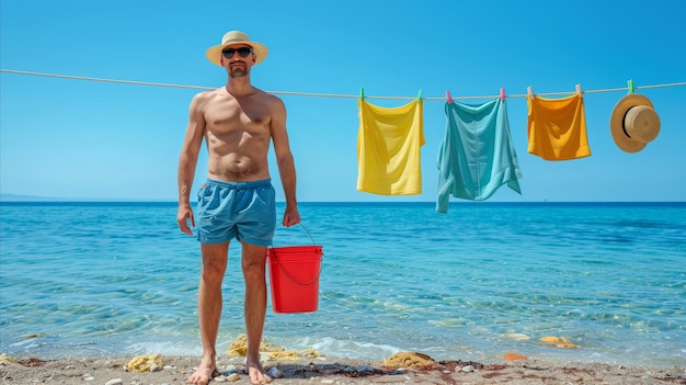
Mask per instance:
[[[547,160],[591,156],[582,95],[560,99],[527,97],[529,154]]]

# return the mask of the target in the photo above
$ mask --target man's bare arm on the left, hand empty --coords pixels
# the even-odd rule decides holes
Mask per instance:
[[[179,157],[179,213],[176,214],[176,222],[181,231],[187,235],[193,235],[193,231],[188,228],[188,220],[191,220],[191,226],[195,227],[190,201],[197,156],[205,135],[205,117],[203,115],[205,95],[205,93],[198,93],[191,101],[188,126],[186,127],[181,156]]]

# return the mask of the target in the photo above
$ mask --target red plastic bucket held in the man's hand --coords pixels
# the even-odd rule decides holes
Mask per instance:
[[[272,247],[266,256],[274,313],[317,312],[322,246]]]

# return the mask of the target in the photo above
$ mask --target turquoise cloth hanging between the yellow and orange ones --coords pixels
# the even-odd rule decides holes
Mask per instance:
[[[447,213],[451,194],[484,201],[503,184],[522,194],[505,101],[481,105],[446,103],[446,129],[438,150],[436,212]]]

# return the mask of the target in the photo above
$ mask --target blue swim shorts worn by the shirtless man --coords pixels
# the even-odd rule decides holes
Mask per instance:
[[[251,245],[271,246],[276,227],[272,181],[208,179],[197,193],[195,224],[202,244],[224,244],[237,238]]]

